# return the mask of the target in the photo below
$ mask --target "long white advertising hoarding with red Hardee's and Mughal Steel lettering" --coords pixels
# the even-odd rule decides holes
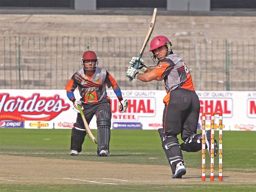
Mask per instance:
[[[200,100],[200,113],[223,113],[221,124],[223,123],[224,131],[256,131],[255,91],[197,91],[196,93]],[[74,94],[76,99],[80,99],[78,91]],[[112,122],[141,122],[142,129],[149,130],[163,127],[163,98],[166,95],[164,90],[122,90],[123,98],[129,100],[128,108],[124,113],[118,110],[118,100],[113,90],[109,89],[107,94],[111,99]],[[0,121],[48,121],[59,128],[69,129],[66,125],[76,122],[77,116],[70,105],[72,102],[68,100],[65,90],[2,89],[0,90]],[[198,123],[200,127],[201,115]],[[206,116],[207,130],[211,128],[211,124],[211,116]],[[90,128],[97,129],[95,116],[90,122]],[[218,117],[215,118],[214,129],[219,129]]]

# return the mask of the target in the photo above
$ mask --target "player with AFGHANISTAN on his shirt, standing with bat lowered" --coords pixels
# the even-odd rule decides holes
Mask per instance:
[[[128,100],[123,100],[122,92],[115,79],[106,69],[97,67],[98,58],[93,51],[84,52],[81,59],[82,69],[77,71],[69,80],[65,90],[68,99],[73,102],[73,109],[77,112],[76,123],[71,131],[71,156],[77,156],[82,151],[82,144],[86,136],[84,121],[80,115],[78,105],[81,106],[85,119],[90,124],[95,115],[97,120],[97,140],[99,156],[108,156],[111,127],[111,105],[107,96],[106,85],[112,87],[118,102],[118,109],[123,113],[128,107]],[[80,100],[76,100],[74,91],[78,87]]]

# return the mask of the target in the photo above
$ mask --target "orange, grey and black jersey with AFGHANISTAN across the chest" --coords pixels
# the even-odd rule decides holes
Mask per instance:
[[[78,86],[82,102],[97,103],[108,97],[106,85],[110,88],[115,84],[115,79],[106,69],[96,67],[95,73],[90,77],[84,74],[84,69],[82,68],[71,77],[65,90],[74,92]]]

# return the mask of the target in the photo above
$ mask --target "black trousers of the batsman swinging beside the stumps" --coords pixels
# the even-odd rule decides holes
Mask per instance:
[[[196,92],[183,88],[171,91],[169,104],[165,105],[163,113],[165,134],[181,134],[183,141],[196,134],[199,111],[200,103]]]

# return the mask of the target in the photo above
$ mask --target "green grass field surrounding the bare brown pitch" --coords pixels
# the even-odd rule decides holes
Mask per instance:
[[[92,130],[97,135],[96,130]],[[70,156],[71,130],[32,130],[32,129],[0,129],[0,154],[10,156],[44,157],[47,159],[74,160]],[[217,137],[218,131],[215,132]],[[106,186],[104,184],[15,184],[0,180],[1,192],[4,191],[255,191],[256,181],[226,182],[225,171],[255,173],[256,172],[256,132],[224,131],[223,132],[223,182],[207,182],[185,184],[184,182],[166,184],[138,184]],[[182,140],[179,138],[180,143]],[[167,165],[167,159],[156,130],[111,130],[110,154],[108,157],[96,155],[97,145],[86,136],[81,156],[77,161],[126,163],[140,165]],[[87,154],[88,153],[88,154]],[[201,152],[183,152],[186,168],[201,167]],[[156,158],[156,159],[155,159]],[[209,158],[208,158],[209,160]],[[218,164],[218,158],[215,163]],[[209,161],[208,161],[209,164]],[[0,170],[3,164],[0,164]],[[215,169],[218,166],[215,165]],[[0,171],[2,178],[2,171]],[[153,173],[152,173],[153,174]],[[208,174],[208,173],[207,173]],[[256,174],[256,173],[255,173]],[[209,175],[209,174],[208,174]],[[198,175],[200,177],[201,175]],[[246,180],[246,178],[242,178]],[[171,177],[170,177],[170,180]],[[86,190],[85,190],[86,188]],[[90,190],[88,190],[90,189]]]

